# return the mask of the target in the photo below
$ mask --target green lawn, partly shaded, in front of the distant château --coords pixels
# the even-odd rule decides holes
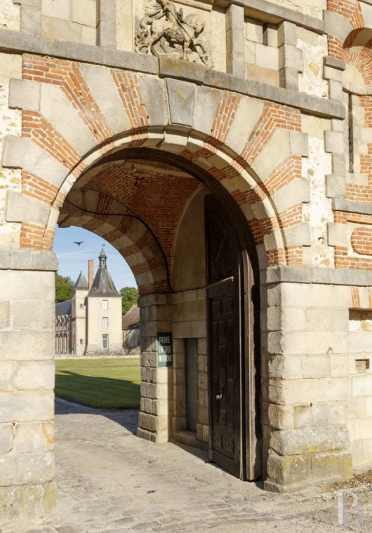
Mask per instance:
[[[139,409],[139,359],[55,361],[55,396],[106,409]]]

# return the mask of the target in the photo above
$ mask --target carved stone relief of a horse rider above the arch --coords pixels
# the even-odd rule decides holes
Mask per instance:
[[[182,8],[177,11],[172,0],[147,0],[135,51],[208,65],[204,43],[198,39],[205,25],[200,15],[184,18]]]

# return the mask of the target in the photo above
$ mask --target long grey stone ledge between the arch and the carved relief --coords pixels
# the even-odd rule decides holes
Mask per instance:
[[[344,119],[343,105],[325,98],[299,93],[295,90],[270,86],[267,83],[246,80],[239,76],[194,65],[187,61],[173,62],[151,55],[113,50],[88,44],[46,39],[25,32],[0,29],[0,50],[14,53],[51,55],[80,62],[154,74],[160,77],[185,79],[199,85],[232,90],[236,93],[296,107],[303,112],[332,119]]]

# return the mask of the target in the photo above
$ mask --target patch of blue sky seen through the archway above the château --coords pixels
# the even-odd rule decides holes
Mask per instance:
[[[84,241],[80,246],[74,241]],[[121,287],[136,287],[131,269],[119,252],[102,237],[79,227],[59,228],[55,230],[53,250],[58,257],[58,273],[77,280],[79,272],[84,271],[88,279],[88,259],[94,260],[94,274],[98,269],[98,255],[105,244],[107,268],[117,290]]]

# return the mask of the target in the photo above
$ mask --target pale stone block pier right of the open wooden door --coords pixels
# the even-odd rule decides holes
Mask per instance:
[[[267,288],[262,321],[267,324],[264,442],[270,450],[265,484],[272,490],[293,490],[304,476],[316,482],[325,475],[351,474],[349,305],[350,290],[342,285],[274,283]]]

